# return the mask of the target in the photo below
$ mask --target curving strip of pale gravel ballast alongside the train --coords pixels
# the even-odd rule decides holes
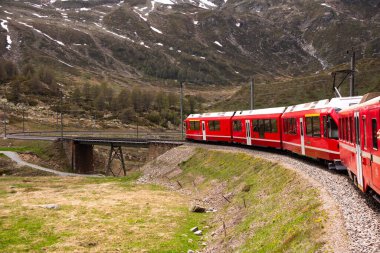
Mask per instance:
[[[249,153],[256,157],[283,164],[301,175],[315,180],[321,189],[321,195],[325,195],[327,199],[333,199],[333,202],[335,202],[333,205],[338,207],[338,214],[336,215],[343,216],[344,227],[348,234],[349,251],[354,253],[380,252],[380,205],[372,200],[371,197],[365,196],[356,189],[345,173],[330,171],[313,161],[287,156],[276,151],[270,152],[198,143],[187,145]],[[323,196],[322,198],[325,200]],[[332,227],[333,233],[334,229],[338,230],[337,227]],[[344,240],[344,238],[334,238],[334,240],[339,244],[339,240]]]

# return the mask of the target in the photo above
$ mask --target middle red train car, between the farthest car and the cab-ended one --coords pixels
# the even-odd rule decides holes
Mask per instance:
[[[232,141],[281,149],[281,115],[285,108],[237,111],[232,117]]]

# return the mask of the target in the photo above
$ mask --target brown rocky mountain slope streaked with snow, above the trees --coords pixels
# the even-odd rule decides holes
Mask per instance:
[[[0,56],[123,83],[239,83],[380,55],[379,0],[28,0],[0,3]],[[91,75],[91,74],[90,74]]]

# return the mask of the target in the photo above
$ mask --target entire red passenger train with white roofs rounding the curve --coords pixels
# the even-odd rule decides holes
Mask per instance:
[[[191,114],[186,139],[272,147],[348,169],[359,188],[380,194],[380,94],[289,107]],[[379,131],[380,135],[380,131]]]

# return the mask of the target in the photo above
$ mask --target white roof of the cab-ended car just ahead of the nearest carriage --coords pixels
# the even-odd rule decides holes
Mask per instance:
[[[286,109],[285,113],[307,111],[311,109],[324,109],[324,108],[344,109],[349,106],[359,104],[361,99],[362,99],[362,96],[332,98],[331,100],[323,99],[323,100],[314,101],[310,103],[289,106]]]

